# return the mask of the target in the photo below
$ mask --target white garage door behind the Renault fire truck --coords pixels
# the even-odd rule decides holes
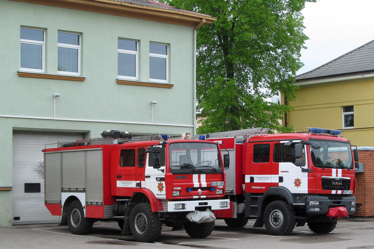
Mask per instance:
[[[13,224],[59,222],[44,205],[45,144],[82,140],[82,133],[13,132]],[[56,145],[48,145],[53,148]]]

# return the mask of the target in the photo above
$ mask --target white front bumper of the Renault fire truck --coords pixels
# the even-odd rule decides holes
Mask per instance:
[[[167,201],[167,200],[165,200]],[[166,204],[166,205],[165,205]],[[162,201],[163,211],[167,212],[191,212],[195,211],[197,208],[210,208],[211,210],[221,210],[230,208],[230,200],[187,200],[187,201],[167,201],[166,203]],[[165,210],[167,208],[167,210]]]

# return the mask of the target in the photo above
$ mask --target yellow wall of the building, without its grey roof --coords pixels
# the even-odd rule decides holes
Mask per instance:
[[[374,146],[374,80],[300,86],[295,95],[295,101],[287,102],[294,108],[287,114],[287,127],[343,130],[352,144]],[[352,105],[354,128],[343,129],[343,106]]]

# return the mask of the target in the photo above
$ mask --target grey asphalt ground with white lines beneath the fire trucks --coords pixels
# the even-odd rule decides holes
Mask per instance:
[[[73,235],[67,226],[58,224],[15,225],[0,227],[1,249],[358,249],[374,248],[374,218],[345,218],[329,234],[312,233],[307,225],[295,227],[287,236],[271,236],[265,228],[252,228],[249,221],[243,228],[229,228],[217,220],[212,234],[204,239],[193,239],[186,231],[171,231],[163,226],[154,243],[140,243],[131,235],[121,234],[116,222],[96,222],[92,233]]]

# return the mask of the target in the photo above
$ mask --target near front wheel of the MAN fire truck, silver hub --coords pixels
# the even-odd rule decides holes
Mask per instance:
[[[295,211],[283,200],[273,201],[265,209],[264,224],[271,235],[287,235],[295,228]]]

